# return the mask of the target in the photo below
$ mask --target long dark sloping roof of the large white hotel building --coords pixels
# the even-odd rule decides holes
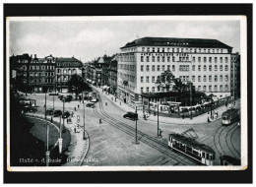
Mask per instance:
[[[217,39],[177,38],[177,37],[142,37],[126,43],[122,48],[132,46],[180,46],[206,48],[232,48]]]

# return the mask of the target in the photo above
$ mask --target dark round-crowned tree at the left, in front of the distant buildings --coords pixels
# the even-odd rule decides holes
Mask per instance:
[[[70,93],[75,93],[77,99],[78,94],[83,91],[91,91],[92,89],[81,76],[74,74],[68,81],[68,90]]]

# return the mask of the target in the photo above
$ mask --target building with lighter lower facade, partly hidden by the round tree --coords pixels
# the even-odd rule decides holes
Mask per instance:
[[[76,59],[72,58],[56,58],[56,88],[58,92],[67,93],[68,92],[68,81],[71,76],[77,74],[82,76],[83,63]]]

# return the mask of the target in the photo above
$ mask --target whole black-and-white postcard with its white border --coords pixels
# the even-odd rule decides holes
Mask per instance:
[[[8,170],[246,169],[246,23],[8,17]]]

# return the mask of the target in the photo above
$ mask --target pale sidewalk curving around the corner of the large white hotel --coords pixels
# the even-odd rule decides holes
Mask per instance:
[[[122,109],[124,112],[127,112],[127,111],[134,111],[135,112],[135,108],[133,108],[132,106],[124,103],[123,101],[121,101],[120,99],[116,98],[116,101],[115,101],[115,96],[112,95],[112,94],[106,94],[106,93],[102,93],[102,90],[99,89],[99,88],[96,88],[95,86],[92,86],[91,87],[96,90],[100,95],[102,96],[105,96],[106,98],[108,98],[113,104],[115,104],[116,106],[118,106],[120,109]],[[237,99],[235,100],[236,104],[235,104],[235,108],[239,108],[240,106],[240,99]],[[217,109],[215,109],[216,112],[218,112],[218,119],[221,119],[222,118],[222,114],[224,111],[226,111],[226,106],[223,105]],[[138,114],[139,114],[139,117],[140,118],[143,118],[143,111],[142,110],[138,110],[137,111]],[[194,125],[194,124],[204,124],[204,123],[208,123],[208,117],[209,117],[210,114],[208,114],[208,112],[202,114],[202,115],[199,115],[199,116],[196,116],[196,117],[193,117],[193,119],[190,119],[190,118],[185,118],[185,119],[182,119],[182,118],[172,118],[172,117],[164,117],[164,116],[160,116],[159,117],[159,121],[160,123],[171,123],[171,124],[191,124],[191,125]],[[158,121],[158,116],[154,116],[154,114],[151,114],[150,117],[147,119],[149,121]]]

